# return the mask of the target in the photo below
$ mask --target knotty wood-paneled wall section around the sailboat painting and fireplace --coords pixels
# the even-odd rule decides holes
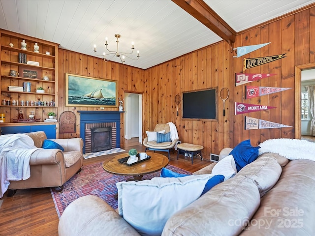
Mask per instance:
[[[143,93],[145,89],[145,71],[116,62],[104,62],[103,59],[59,49],[59,100],[58,118],[64,111],[76,115],[76,133],[60,134],[59,138],[80,137],[80,114],[77,111],[98,111],[100,107],[66,107],[65,73],[90,76],[117,81],[118,97],[124,98],[125,92]],[[118,111],[118,108],[106,108],[104,111]],[[124,147],[124,115],[121,114],[121,147]]]

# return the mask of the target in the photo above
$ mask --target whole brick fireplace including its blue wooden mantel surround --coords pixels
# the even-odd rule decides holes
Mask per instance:
[[[80,114],[80,138],[83,139],[83,153],[97,151],[97,150],[93,150],[93,147],[92,147],[91,130],[98,129],[98,128],[111,127],[111,140],[112,140],[111,148],[120,148],[120,115],[122,112],[114,112],[114,111],[112,112],[78,111],[78,112]],[[104,137],[100,136],[99,138],[104,138]],[[101,141],[100,143],[103,143],[103,142]],[[97,144],[97,146],[101,146],[101,145]]]

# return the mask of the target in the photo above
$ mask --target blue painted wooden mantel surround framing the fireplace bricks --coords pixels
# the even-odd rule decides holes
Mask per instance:
[[[80,113],[80,138],[83,139],[83,153],[85,153],[85,126],[87,123],[116,122],[116,148],[120,148],[120,115],[118,111],[78,111]]]

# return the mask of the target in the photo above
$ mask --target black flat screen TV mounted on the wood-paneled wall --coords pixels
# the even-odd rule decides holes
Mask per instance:
[[[183,92],[183,118],[217,119],[218,87]]]

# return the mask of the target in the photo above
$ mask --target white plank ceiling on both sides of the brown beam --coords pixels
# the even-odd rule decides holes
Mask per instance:
[[[231,32],[239,32],[315,0],[204,2]],[[131,51],[132,41],[135,50],[140,51],[139,60],[126,59],[126,64],[143,69],[222,40],[222,35],[171,0],[0,0],[0,28],[91,56],[94,44],[97,53],[105,51],[105,37],[109,49],[116,50],[114,34],[120,33],[120,51]],[[114,57],[113,61],[120,60]]]

